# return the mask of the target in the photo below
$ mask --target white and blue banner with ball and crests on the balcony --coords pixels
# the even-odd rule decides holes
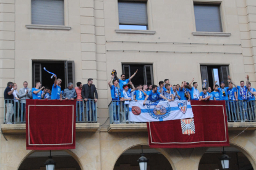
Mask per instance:
[[[143,105],[143,102],[143,100],[129,102],[129,121],[167,121],[194,117],[190,102],[187,100],[173,102],[147,100],[146,105]]]

